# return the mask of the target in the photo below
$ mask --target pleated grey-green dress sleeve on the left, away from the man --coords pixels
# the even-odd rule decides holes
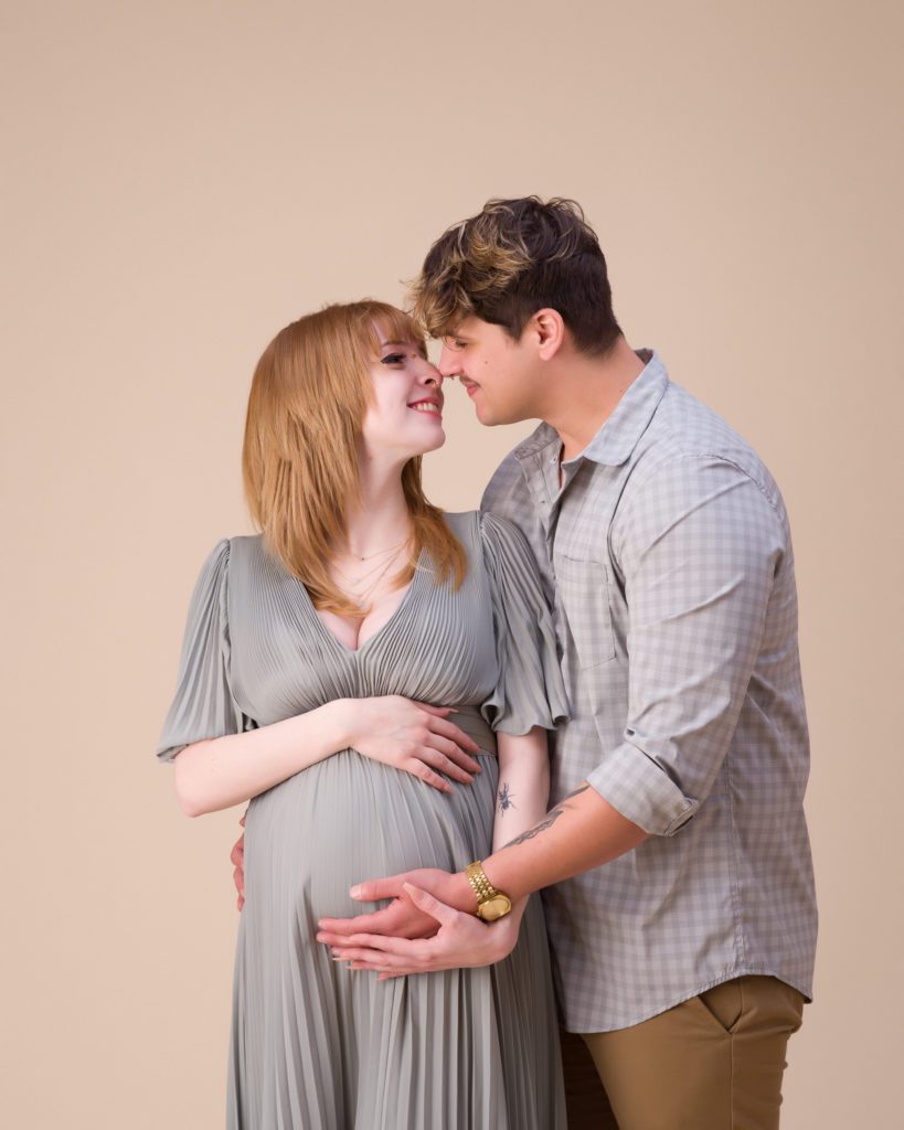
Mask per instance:
[[[157,745],[160,760],[172,762],[193,741],[249,729],[229,685],[227,580],[229,542],[218,541],[194,584],[176,692]]]

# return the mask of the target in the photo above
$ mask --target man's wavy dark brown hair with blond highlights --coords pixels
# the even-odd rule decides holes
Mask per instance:
[[[620,336],[606,258],[574,200],[488,200],[444,232],[409,288],[412,314],[432,337],[476,316],[518,341],[544,307],[562,315],[577,349],[601,356]]]

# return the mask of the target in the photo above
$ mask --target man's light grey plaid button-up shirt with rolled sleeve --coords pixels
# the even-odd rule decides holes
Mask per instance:
[[[811,994],[816,904],[788,515],[756,453],[658,355],[562,464],[546,424],[486,510],[527,536],[571,716],[551,799],[586,780],[651,833],[544,893],[574,1032],[644,1020],[722,981]]]

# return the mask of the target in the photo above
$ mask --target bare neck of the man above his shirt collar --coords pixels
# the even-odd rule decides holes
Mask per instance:
[[[563,462],[581,454],[644,367],[624,338],[605,357],[588,357],[572,349],[560,358],[549,382],[551,394],[544,419],[559,434]]]

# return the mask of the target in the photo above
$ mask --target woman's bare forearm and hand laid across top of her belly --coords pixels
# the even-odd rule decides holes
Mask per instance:
[[[470,784],[480,766],[470,756],[477,744],[447,721],[450,713],[401,695],[337,698],[257,730],[195,741],[176,756],[176,797],[186,816],[216,812],[348,748],[451,792],[440,773]]]

